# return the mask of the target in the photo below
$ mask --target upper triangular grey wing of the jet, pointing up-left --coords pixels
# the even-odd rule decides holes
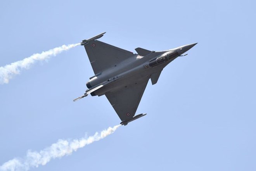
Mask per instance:
[[[94,74],[114,67],[118,63],[133,56],[130,51],[123,50],[110,44],[92,40],[85,45],[85,50],[92,65]]]

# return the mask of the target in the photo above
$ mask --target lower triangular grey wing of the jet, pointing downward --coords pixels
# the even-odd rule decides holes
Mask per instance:
[[[145,78],[137,84],[133,82],[124,88],[105,94],[121,121],[133,120],[148,81],[149,78]]]

